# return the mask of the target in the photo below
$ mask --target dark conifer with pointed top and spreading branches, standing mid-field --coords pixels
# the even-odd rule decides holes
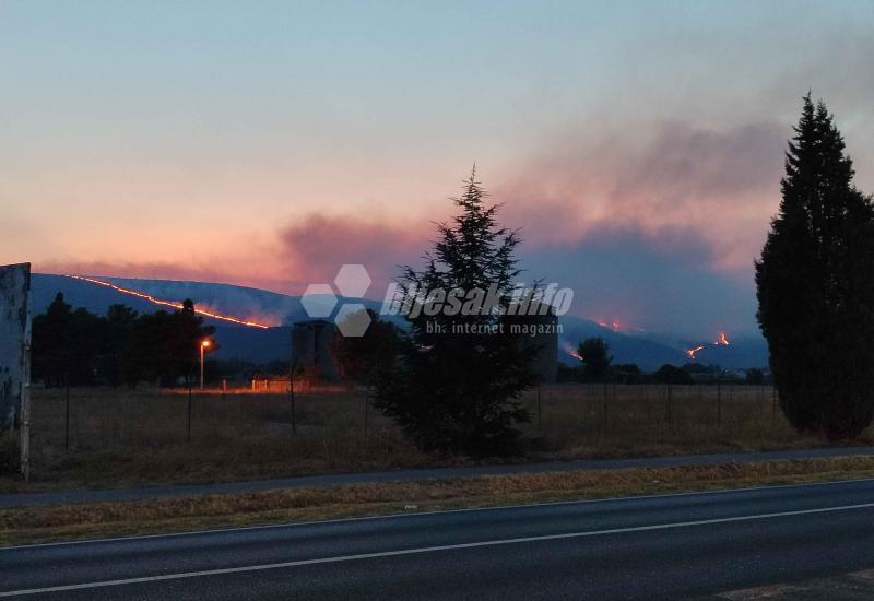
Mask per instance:
[[[538,350],[499,330],[513,303],[509,290],[520,273],[515,258],[520,239],[497,224],[499,205],[485,199],[471,174],[461,198],[452,199],[461,211],[450,224],[439,224],[425,269],[406,267],[399,282],[406,300],[424,309],[408,316],[402,360],[377,384],[375,405],[427,450],[513,452],[521,435],[516,425],[530,421],[519,397],[535,381],[530,366]],[[486,300],[491,310],[428,315],[444,293],[492,286],[500,294]],[[423,299],[425,291],[432,294]]]

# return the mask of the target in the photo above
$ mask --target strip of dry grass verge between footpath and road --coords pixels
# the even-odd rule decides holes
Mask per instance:
[[[874,476],[874,458],[354,484],[0,511],[0,544]]]

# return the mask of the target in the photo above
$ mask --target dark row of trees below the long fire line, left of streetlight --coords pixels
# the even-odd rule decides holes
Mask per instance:
[[[82,307],[73,310],[58,293],[33,320],[33,377],[47,387],[134,387],[142,381],[172,387],[193,375],[203,340],[215,349],[214,332],[190,299],[173,313],[138,315],[126,305],[111,305],[98,316]]]

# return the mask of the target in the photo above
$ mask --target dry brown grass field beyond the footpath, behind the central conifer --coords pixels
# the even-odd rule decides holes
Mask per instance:
[[[196,391],[35,388],[28,490],[213,482],[458,464],[423,455],[365,403],[364,390]],[[817,446],[775,411],[770,388],[560,384],[529,391],[518,460],[630,457]],[[855,444],[869,444],[871,431]],[[20,491],[14,478],[0,490]]]

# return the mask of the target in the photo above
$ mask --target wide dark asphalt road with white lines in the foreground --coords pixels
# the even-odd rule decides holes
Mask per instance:
[[[874,480],[0,550],[47,599],[677,599],[874,566]]]

